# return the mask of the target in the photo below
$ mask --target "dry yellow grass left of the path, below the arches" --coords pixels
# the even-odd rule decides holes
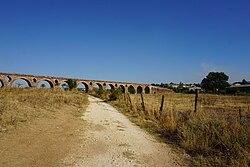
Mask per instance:
[[[66,105],[83,108],[87,102],[86,95],[60,89],[1,88],[0,131],[36,117],[49,117]]]

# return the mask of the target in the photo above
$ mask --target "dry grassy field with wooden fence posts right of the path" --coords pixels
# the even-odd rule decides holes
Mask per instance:
[[[250,96],[199,94],[122,95],[111,104],[139,126],[183,148],[191,166],[250,166]],[[240,110],[240,113],[239,113]]]

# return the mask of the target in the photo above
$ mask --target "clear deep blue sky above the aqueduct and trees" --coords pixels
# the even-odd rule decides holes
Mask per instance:
[[[249,0],[0,0],[1,72],[234,82],[249,62]]]

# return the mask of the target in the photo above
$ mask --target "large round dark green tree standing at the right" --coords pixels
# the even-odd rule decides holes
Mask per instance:
[[[224,72],[210,72],[201,81],[201,87],[210,93],[223,93],[230,86],[227,82],[229,77]]]

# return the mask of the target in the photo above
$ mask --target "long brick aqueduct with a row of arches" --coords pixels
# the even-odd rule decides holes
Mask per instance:
[[[95,85],[99,89],[110,89],[121,88],[123,92],[129,92],[134,90],[134,93],[161,93],[169,92],[169,89],[159,88],[149,84],[138,84],[130,82],[114,82],[114,81],[100,81],[100,80],[86,80],[79,78],[64,78],[64,77],[52,77],[52,76],[37,76],[29,74],[16,74],[16,73],[1,73],[0,72],[0,87],[13,87],[16,80],[24,80],[27,83],[27,87],[36,88],[39,83],[47,82],[50,88],[59,87],[63,82],[68,79],[75,80],[77,85],[84,85],[85,92],[92,91]]]

